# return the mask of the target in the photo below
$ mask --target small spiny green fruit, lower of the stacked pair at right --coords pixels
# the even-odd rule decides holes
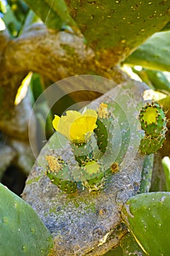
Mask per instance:
[[[164,140],[166,140],[165,135],[159,135],[158,137],[146,135],[141,140],[139,149],[142,154],[154,154],[163,146]]]

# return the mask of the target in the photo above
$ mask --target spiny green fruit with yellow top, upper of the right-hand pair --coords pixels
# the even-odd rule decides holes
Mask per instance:
[[[157,103],[147,103],[139,114],[142,129],[147,135],[158,136],[166,129],[166,116]]]

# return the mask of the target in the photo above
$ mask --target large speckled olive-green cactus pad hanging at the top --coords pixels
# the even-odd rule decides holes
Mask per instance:
[[[112,52],[103,52],[103,57],[107,56],[107,62],[111,63],[128,56],[169,22],[168,1],[66,0],[66,3],[93,49],[112,48]]]

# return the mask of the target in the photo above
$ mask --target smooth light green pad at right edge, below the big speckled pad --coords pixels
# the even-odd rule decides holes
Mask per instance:
[[[154,34],[150,39],[139,46],[125,63],[140,65],[147,69],[170,71],[170,31]]]

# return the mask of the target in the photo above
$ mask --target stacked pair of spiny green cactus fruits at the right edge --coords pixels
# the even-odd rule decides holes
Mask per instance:
[[[166,140],[166,116],[158,103],[147,103],[139,113],[145,136],[140,143],[142,154],[156,153]]]

